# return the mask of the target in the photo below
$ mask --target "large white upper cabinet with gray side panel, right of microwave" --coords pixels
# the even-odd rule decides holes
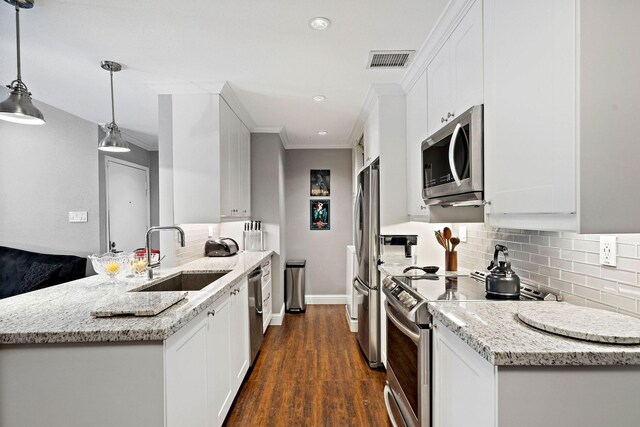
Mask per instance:
[[[484,4],[490,224],[640,231],[640,3]]]

